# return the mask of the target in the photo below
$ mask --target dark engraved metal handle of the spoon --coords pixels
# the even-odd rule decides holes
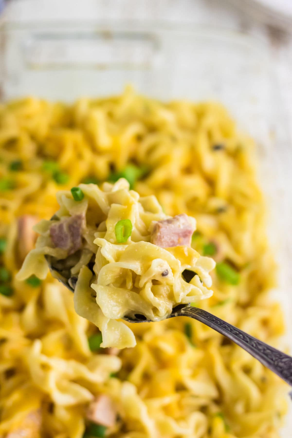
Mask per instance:
[[[241,346],[265,367],[278,374],[279,377],[292,386],[292,357],[288,356],[288,354],[276,350],[274,347],[198,307],[184,307],[177,315],[197,319],[197,321],[203,322],[203,324],[208,325],[211,329],[226,336],[226,338]]]

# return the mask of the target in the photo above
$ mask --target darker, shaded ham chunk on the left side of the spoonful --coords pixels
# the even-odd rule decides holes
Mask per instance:
[[[74,254],[81,248],[81,231],[85,225],[83,214],[70,216],[54,223],[50,228],[50,236],[53,244],[57,248],[68,251],[68,255]]]

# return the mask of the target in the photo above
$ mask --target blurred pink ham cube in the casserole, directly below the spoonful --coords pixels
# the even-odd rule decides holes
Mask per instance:
[[[106,394],[101,394],[89,403],[86,418],[92,423],[112,427],[116,423],[116,414],[112,399]]]

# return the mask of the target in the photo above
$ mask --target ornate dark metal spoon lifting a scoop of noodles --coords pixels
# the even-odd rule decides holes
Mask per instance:
[[[54,267],[53,258],[46,255],[48,261],[49,269],[56,279],[58,279],[67,289],[74,292],[75,285],[77,282],[77,277],[70,277],[70,271],[67,272],[60,271]],[[250,353],[253,357],[260,361],[265,367],[269,368],[275,374],[285,380],[288,385],[292,386],[292,357],[288,354],[282,353],[274,347],[260,341],[257,338],[249,335],[242,330],[237,329],[234,325],[229,324],[223,319],[218,318],[211,313],[199,309],[198,307],[192,307],[190,304],[179,304],[173,307],[171,314],[167,318],[174,318],[176,316],[188,316],[189,318],[196,319],[202,322],[211,329],[216,330],[216,332],[221,333],[226,338],[235,342],[237,345]],[[146,319],[144,315],[135,314],[135,319],[124,316],[123,319],[127,322],[152,322]],[[290,393],[292,397],[292,392]]]

